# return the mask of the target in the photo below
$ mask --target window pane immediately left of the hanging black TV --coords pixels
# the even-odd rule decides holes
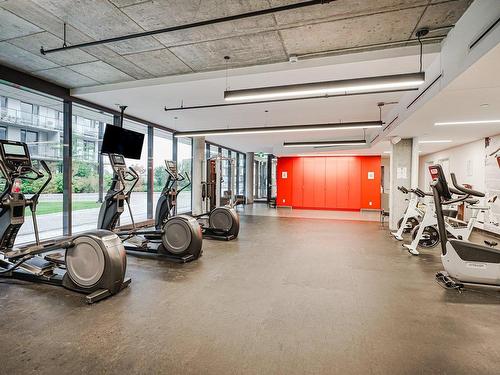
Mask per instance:
[[[107,155],[100,155],[100,142],[106,124],[113,123],[113,116],[81,105],[73,105],[72,120],[72,224],[73,233],[77,233],[97,227],[102,195],[106,194],[104,180],[100,178],[99,173],[100,163],[107,162],[108,158]],[[106,182],[109,187],[109,173],[106,175]]]

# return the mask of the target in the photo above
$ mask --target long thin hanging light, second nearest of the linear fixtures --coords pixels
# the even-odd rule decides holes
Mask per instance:
[[[381,128],[382,121],[362,121],[362,122],[340,122],[329,124],[310,124],[310,125],[285,125],[269,126],[255,128],[233,128],[233,129],[213,129],[198,130],[174,133],[174,137],[206,137],[210,135],[239,135],[239,134],[263,134],[263,133],[290,133],[290,132],[309,132],[320,130],[345,130],[345,129],[372,129]]]

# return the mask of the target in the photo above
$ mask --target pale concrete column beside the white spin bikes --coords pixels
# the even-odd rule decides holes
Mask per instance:
[[[389,227],[391,230],[397,229],[398,220],[403,216],[407,206],[407,202],[405,199],[409,197],[406,194],[400,192],[397,187],[398,186],[404,186],[406,188],[411,187],[412,165],[413,165],[412,156],[413,156],[412,139],[402,139],[397,144],[392,145],[390,193],[389,193]],[[418,150],[417,150],[417,157],[418,157]]]

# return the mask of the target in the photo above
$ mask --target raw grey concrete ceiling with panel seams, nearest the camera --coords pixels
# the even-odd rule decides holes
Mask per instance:
[[[292,54],[414,37],[417,28],[454,24],[472,0],[337,0],[154,37],[63,51],[75,44],[295,3],[298,0],[3,0],[0,63],[65,87],[143,80],[284,62]],[[446,33],[441,30],[440,34]],[[439,35],[439,34],[438,34]]]

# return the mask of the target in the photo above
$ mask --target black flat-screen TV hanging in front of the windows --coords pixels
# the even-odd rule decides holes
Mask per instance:
[[[128,159],[140,159],[144,134],[106,124],[102,138],[102,154],[120,154]]]

